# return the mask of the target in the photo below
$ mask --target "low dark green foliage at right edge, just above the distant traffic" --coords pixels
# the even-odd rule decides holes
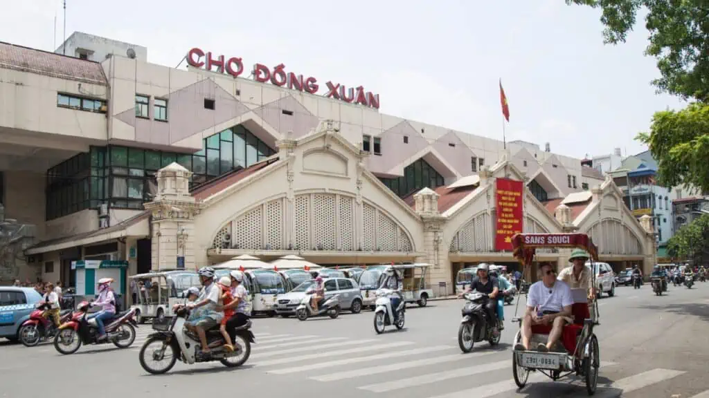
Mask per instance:
[[[667,241],[667,254],[673,258],[686,258],[696,264],[705,263],[709,256],[709,215],[702,215],[681,227]]]

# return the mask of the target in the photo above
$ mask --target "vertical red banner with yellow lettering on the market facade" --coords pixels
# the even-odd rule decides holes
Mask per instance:
[[[496,179],[495,249],[512,251],[512,237],[523,231],[524,185],[522,181]]]

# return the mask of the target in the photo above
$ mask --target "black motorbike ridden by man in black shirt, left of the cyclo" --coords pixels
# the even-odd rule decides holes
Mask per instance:
[[[472,292],[464,295],[465,305],[462,309],[463,318],[460,320],[458,328],[458,345],[461,351],[469,353],[472,351],[474,343],[488,341],[491,346],[500,343],[501,333],[493,333],[493,327],[498,322],[497,319],[489,319],[490,316],[485,309],[490,298],[484,293]]]

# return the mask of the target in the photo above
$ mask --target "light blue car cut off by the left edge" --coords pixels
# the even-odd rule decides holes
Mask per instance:
[[[34,288],[0,287],[0,337],[19,341],[20,326],[41,300],[42,295]]]

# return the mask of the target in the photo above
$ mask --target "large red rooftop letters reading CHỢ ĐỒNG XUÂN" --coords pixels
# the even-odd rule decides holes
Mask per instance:
[[[244,73],[244,64],[240,57],[215,56],[211,52],[204,52],[196,47],[187,52],[187,64],[191,67],[203,67],[203,69],[210,72],[215,70],[234,77],[239,77]],[[270,81],[275,86],[287,87],[291,90],[304,91],[311,94],[316,94],[320,91],[318,79],[313,76],[303,77],[302,74],[286,72],[286,65],[284,64],[276,65],[273,68],[269,68],[264,64],[254,64],[250,72],[250,76],[259,83]],[[333,83],[332,81],[325,83],[325,86],[327,87],[327,91],[324,94],[326,98],[335,98],[346,103],[355,103],[379,109],[379,94],[364,91],[363,86],[350,87],[348,89],[344,84]]]

